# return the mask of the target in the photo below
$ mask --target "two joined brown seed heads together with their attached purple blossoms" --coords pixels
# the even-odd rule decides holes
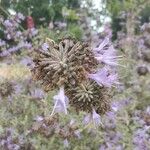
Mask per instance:
[[[98,48],[101,52],[108,52],[104,48],[106,43],[109,45],[108,39]],[[99,115],[110,110],[109,89],[117,83],[117,75],[106,67],[100,69],[104,64],[97,60],[95,50],[88,44],[71,38],[63,38],[58,44],[47,39],[33,61],[33,78],[40,80],[46,91],[59,89],[52,114],[67,114],[69,102],[77,112],[90,113],[99,124]]]

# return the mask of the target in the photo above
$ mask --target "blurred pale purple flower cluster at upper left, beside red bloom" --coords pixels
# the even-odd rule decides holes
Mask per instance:
[[[25,30],[21,23],[25,17],[21,13],[10,16],[8,19],[1,17],[1,39],[0,39],[0,58],[10,56],[20,50],[30,50],[32,44],[31,38],[37,35],[38,31],[34,28]]]

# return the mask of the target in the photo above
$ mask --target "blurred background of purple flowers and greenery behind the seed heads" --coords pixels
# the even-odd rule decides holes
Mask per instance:
[[[123,56],[114,111],[97,130],[84,128],[84,113],[60,116],[62,130],[70,120],[79,129],[69,140],[41,123],[55,91],[45,93],[30,73],[45,39],[67,36],[93,48],[108,36]],[[0,149],[149,150],[150,0],[0,0]]]

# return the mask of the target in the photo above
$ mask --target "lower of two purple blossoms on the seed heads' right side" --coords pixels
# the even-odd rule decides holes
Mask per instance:
[[[117,74],[110,74],[109,70],[104,67],[98,70],[94,74],[88,75],[90,79],[93,79],[100,86],[111,87],[113,84],[118,84],[117,82]]]

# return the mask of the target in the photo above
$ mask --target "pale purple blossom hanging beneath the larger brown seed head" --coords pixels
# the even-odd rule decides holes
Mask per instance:
[[[55,95],[53,99],[55,101],[55,105],[51,115],[53,115],[54,112],[64,112],[67,114],[68,98],[65,96],[64,87],[60,87],[58,94]]]

